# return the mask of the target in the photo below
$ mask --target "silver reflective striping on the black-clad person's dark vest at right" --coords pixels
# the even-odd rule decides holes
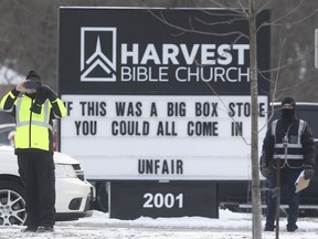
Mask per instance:
[[[277,126],[277,119],[274,121],[272,123],[272,135],[275,137],[275,145],[274,147],[276,149],[285,149],[285,146],[283,143],[276,143],[276,136],[275,136],[275,133],[276,133],[276,126]],[[301,142],[300,142],[300,136],[301,134],[304,133],[305,131],[305,127],[306,127],[306,122],[304,121],[299,121],[299,124],[298,124],[298,135],[297,135],[297,143],[295,144],[290,144],[288,143],[287,144],[287,149],[288,148],[296,148],[296,149],[301,149]],[[304,159],[304,155],[303,154],[287,154],[287,159],[296,159],[296,160],[301,160]],[[280,159],[285,159],[285,154],[275,154],[275,158],[280,158]]]

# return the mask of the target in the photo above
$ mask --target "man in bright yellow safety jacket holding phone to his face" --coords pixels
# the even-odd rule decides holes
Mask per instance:
[[[14,152],[26,191],[28,219],[22,231],[54,231],[53,119],[64,117],[66,108],[34,71],[3,96],[0,107],[15,118]]]

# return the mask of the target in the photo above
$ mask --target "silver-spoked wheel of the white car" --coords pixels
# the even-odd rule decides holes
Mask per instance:
[[[25,189],[18,181],[0,181],[0,226],[23,225],[26,220]]]

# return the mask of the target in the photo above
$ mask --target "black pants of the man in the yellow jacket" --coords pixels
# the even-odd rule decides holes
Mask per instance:
[[[26,226],[53,226],[55,224],[53,154],[50,152],[19,153],[18,164],[26,190]]]

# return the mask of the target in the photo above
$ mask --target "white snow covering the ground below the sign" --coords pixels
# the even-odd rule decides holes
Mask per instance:
[[[265,218],[263,218],[264,226]],[[279,221],[280,239],[317,239],[318,218],[299,218],[296,232],[287,232],[286,218]],[[219,219],[203,217],[110,219],[108,214],[94,211],[89,218],[56,222],[53,233],[23,233],[23,227],[0,227],[0,239],[248,239],[252,215],[220,210]],[[262,233],[263,239],[276,238],[274,232]]]

